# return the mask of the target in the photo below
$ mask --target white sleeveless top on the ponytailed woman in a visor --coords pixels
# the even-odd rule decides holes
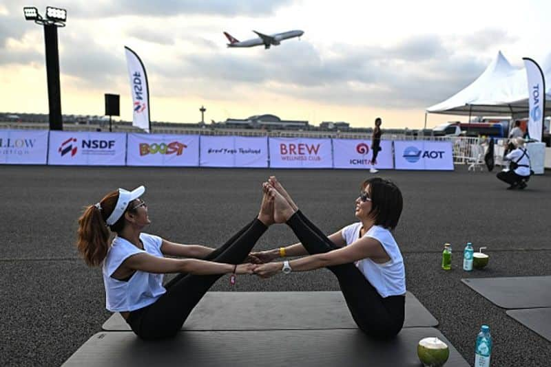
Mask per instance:
[[[163,240],[158,236],[141,233],[140,239],[143,249],[132,245],[122,237],[115,237],[107,257],[103,260],[103,284],[105,285],[105,307],[112,312],[134,311],[154,303],[163,293],[163,274],[146,273],[136,271],[127,281],[112,278],[116,269],[129,256],[135,254],[147,254],[164,257],[160,252],[160,245]]]

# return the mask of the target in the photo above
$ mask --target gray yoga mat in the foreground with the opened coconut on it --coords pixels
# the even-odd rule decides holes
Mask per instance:
[[[408,328],[380,342],[358,329],[184,331],[145,342],[134,333],[101,332],[63,366],[421,366],[417,343],[438,337],[448,344],[446,367],[469,364],[437,329]]]

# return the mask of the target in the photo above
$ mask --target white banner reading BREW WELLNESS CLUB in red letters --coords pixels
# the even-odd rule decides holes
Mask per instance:
[[[270,137],[271,168],[332,168],[331,139]]]

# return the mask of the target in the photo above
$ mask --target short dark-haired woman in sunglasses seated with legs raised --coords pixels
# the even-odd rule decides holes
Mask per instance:
[[[404,324],[406,276],[404,260],[391,234],[402,214],[402,193],[394,183],[373,178],[362,183],[355,201],[360,222],[327,237],[298,210],[275,177],[269,194],[274,197],[275,223],[286,223],[300,243],[254,252],[263,265],[254,270],[267,278],[283,271],[307,271],[327,267],[337,276],[346,304],[357,326],[373,337],[394,337]],[[284,263],[278,257],[303,256]]]

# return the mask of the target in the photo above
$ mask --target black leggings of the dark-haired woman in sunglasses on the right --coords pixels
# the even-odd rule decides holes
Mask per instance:
[[[287,225],[311,255],[340,248],[300,210],[289,218]],[[404,296],[382,298],[354,264],[335,265],[328,269],[337,276],[352,318],[364,333],[377,339],[388,339],[402,330],[406,307]]]

